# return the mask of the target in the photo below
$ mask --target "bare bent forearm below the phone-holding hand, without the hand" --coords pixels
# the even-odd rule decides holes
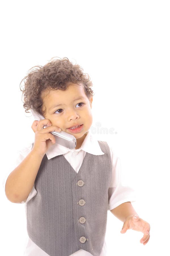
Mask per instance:
[[[33,188],[43,156],[32,150],[10,173],[5,185],[5,194],[12,203],[26,201]]]

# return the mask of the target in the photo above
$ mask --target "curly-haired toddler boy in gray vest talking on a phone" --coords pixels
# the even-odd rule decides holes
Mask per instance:
[[[150,225],[132,207],[132,189],[121,184],[120,160],[90,132],[94,93],[89,76],[63,58],[36,66],[23,80],[25,112],[44,116],[33,122],[35,140],[20,152],[5,182],[8,200],[25,203],[29,240],[24,255],[107,255],[107,210],[124,222],[121,233],[143,232],[145,245]],[[75,149],[56,143],[50,132],[61,130],[75,136]]]

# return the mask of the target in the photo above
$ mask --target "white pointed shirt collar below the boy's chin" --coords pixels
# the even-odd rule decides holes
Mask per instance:
[[[47,150],[46,156],[49,160],[55,156],[66,154],[69,151],[72,151],[72,152],[78,151],[79,152],[80,150],[84,150],[93,155],[103,155],[104,154],[104,152],[100,148],[100,145],[99,145],[97,139],[94,137],[94,135],[91,133],[91,131],[88,130],[88,133],[87,133],[80,148],[70,149],[70,148],[66,148],[60,144],[55,143]]]

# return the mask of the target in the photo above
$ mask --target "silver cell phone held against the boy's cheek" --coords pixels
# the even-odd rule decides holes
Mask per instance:
[[[35,110],[31,109],[31,112],[35,118],[35,120],[42,120],[42,119],[45,119],[44,116],[40,115],[39,113],[37,113]],[[49,127],[48,125],[44,125],[43,128],[46,128],[46,127]],[[55,135],[55,138],[56,138],[56,143],[57,144],[60,144],[66,148],[70,148],[70,149],[73,149],[76,147],[76,138],[69,134],[69,133],[66,133],[64,131],[61,131],[61,132],[57,132],[57,131],[52,131],[50,132],[52,133],[52,135]]]

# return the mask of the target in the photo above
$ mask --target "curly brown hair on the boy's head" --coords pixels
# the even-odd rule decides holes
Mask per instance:
[[[24,80],[23,90],[21,89],[22,81],[20,82],[22,97],[24,95],[22,102],[26,113],[30,113],[28,110],[32,108],[39,114],[45,115],[46,109],[42,110],[42,91],[66,90],[70,83],[78,84],[81,81],[88,99],[94,96],[90,77],[87,73],[83,73],[82,67],[77,64],[73,65],[67,57],[57,60],[54,58],[51,58],[44,66],[34,66],[28,70],[27,75],[22,79]]]

